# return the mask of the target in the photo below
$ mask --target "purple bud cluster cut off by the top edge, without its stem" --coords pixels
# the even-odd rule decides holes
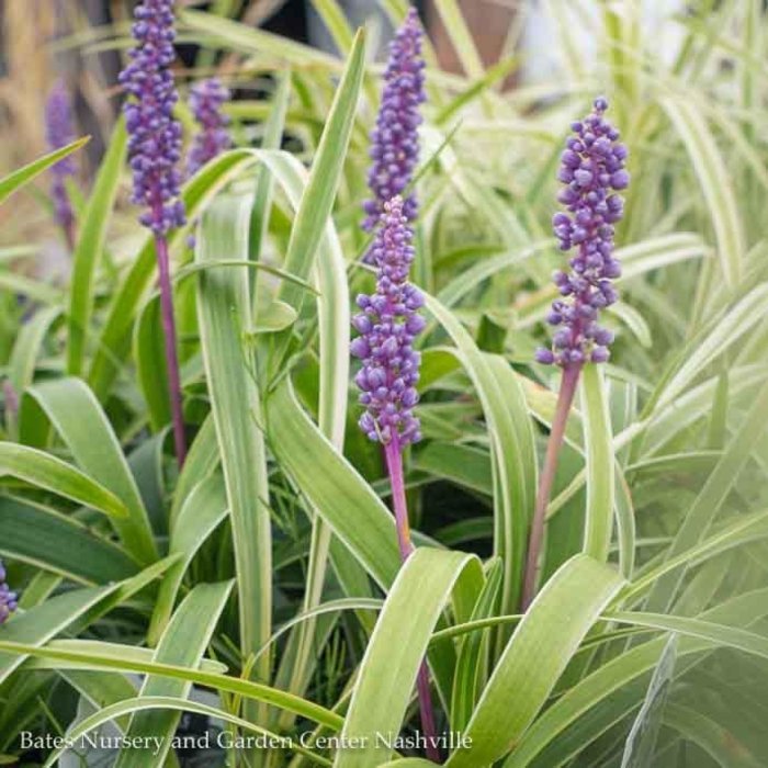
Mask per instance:
[[[184,224],[179,200],[181,124],[173,120],[178,100],[170,66],[173,52],[173,0],[144,0],[134,11],[136,47],[120,82],[129,94],[123,111],[129,134],[133,202],[146,205],[142,224],[161,237]]]

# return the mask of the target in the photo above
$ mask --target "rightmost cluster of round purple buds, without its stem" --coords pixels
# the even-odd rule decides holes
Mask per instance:
[[[618,294],[612,281],[621,275],[613,256],[613,225],[622,217],[624,201],[615,190],[630,183],[624,170],[626,147],[619,132],[603,118],[608,102],[595,100],[591,114],[572,124],[557,178],[565,189],[557,196],[568,213],[555,214],[552,224],[561,250],[578,248],[571,272],[557,271],[554,282],[562,298],[552,304],[547,321],[560,326],[552,349],[539,349],[537,360],[563,368],[605,362],[613,335],[598,325],[600,309]]]

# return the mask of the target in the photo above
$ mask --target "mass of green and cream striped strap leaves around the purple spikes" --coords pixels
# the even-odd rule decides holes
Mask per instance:
[[[221,52],[235,93],[259,84],[228,123],[204,115],[231,146],[185,179],[187,224],[139,225],[131,115],[83,196],[69,185],[64,281],[26,266],[55,230],[45,173],[83,140],[0,180],[3,213],[23,212],[0,247],[0,764],[54,765],[67,743],[30,739],[80,750],[111,723],[136,739],[120,768],[174,766],[192,712],[233,767],[429,766],[421,707],[451,768],[768,765],[763,2],[689,3],[659,31],[640,2],[539,3],[561,69],[504,90],[520,59],[484,68],[458,4],[436,1],[467,74],[425,42],[398,190],[418,199],[421,440],[387,462],[358,426],[350,355],[355,297],[375,291],[361,223],[382,68],[336,0],[312,4],[337,55],[227,18],[237,4],[178,12],[201,70]],[[126,27],[110,33],[59,45],[123,50]],[[535,357],[567,269],[555,176],[601,93],[632,177],[620,300],[600,317],[610,361],[584,365],[563,425],[560,371]]]

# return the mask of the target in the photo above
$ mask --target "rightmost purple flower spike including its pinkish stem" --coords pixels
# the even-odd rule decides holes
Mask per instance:
[[[626,189],[630,174],[624,168],[626,147],[619,143],[619,132],[606,120],[607,109],[608,101],[598,97],[592,112],[571,124],[573,135],[565,144],[557,173],[565,185],[557,200],[568,213],[557,212],[552,226],[561,250],[575,247],[577,251],[568,260],[571,272],[557,270],[553,275],[560,297],[553,302],[546,320],[560,328],[552,348],[539,349],[535,354],[544,365],[560,365],[563,377],[533,510],[521,596],[523,611],[535,596],[546,507],[578,376],[586,362],[605,363],[613,341],[613,334],[598,320],[600,310],[619,298],[613,281],[621,276],[621,264],[613,252],[613,225],[622,218],[624,200],[615,192]]]

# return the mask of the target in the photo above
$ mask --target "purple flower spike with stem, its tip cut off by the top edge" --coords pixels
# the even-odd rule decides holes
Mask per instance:
[[[123,109],[134,176],[132,200],[145,206],[139,221],[155,236],[173,441],[181,465],[187,442],[167,239],[170,229],[185,222],[184,204],[179,199],[181,124],[172,114],[178,101],[170,70],[176,57],[173,0],[144,0],[136,7],[134,19],[136,46],[128,52],[131,64],[120,75],[128,94]]]

